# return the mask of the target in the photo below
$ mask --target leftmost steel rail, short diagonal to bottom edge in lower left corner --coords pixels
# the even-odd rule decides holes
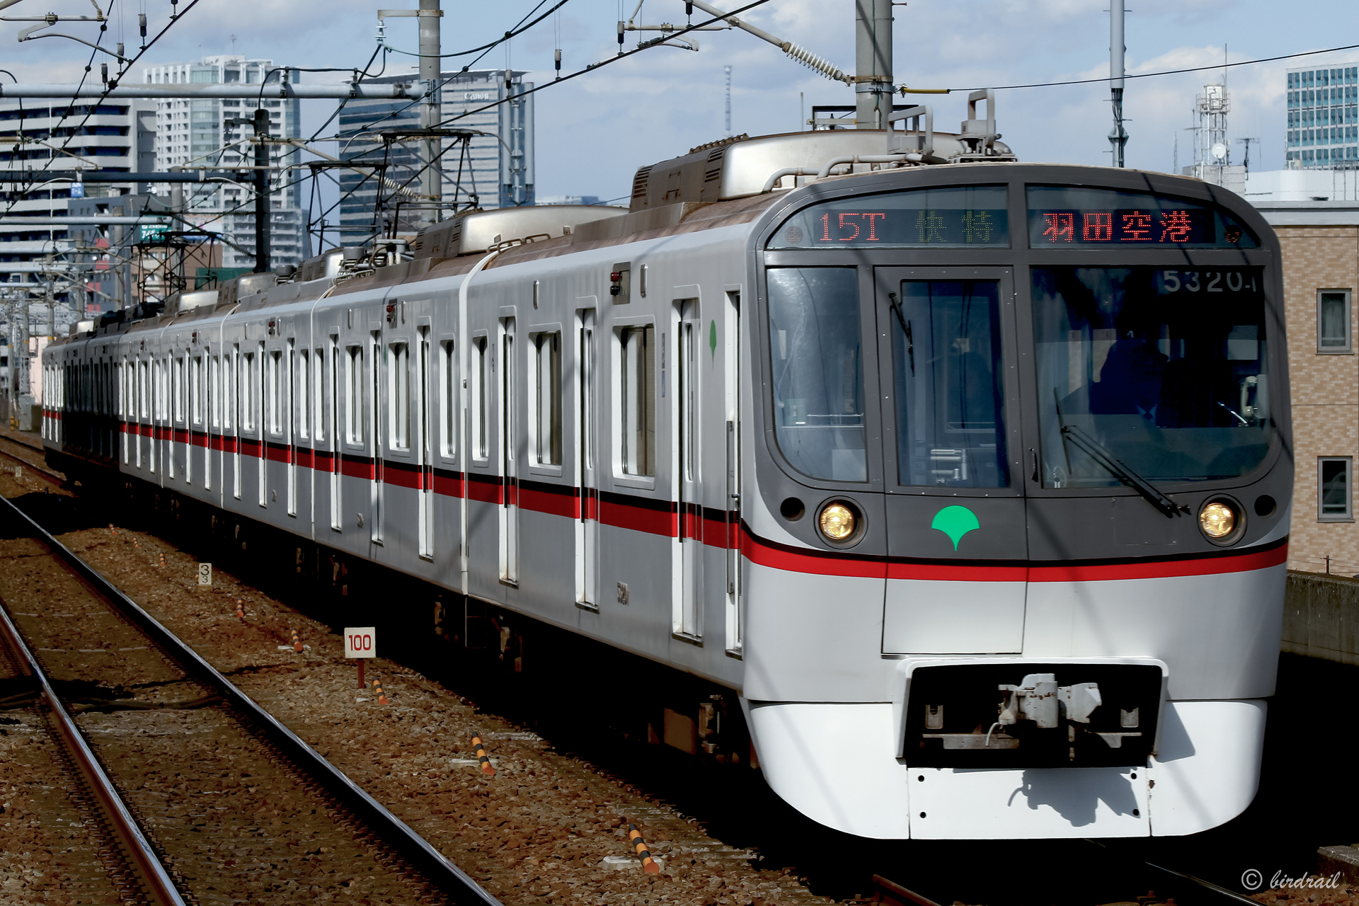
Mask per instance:
[[[14,504],[10,505],[15,512],[19,512]],[[71,713],[61,705],[61,700],[52,689],[48,675],[38,664],[38,659],[33,656],[33,651],[29,649],[29,645],[19,636],[19,630],[10,619],[10,613],[4,607],[0,607],[0,634],[4,636],[4,641],[8,642],[10,648],[19,655],[20,668],[33,676],[42,689],[42,697],[46,698],[46,704],[52,709],[57,731],[61,733],[61,742],[71,753],[77,770],[84,776],[86,782],[94,791],[95,797],[109,816],[113,831],[130,857],[132,867],[140,875],[147,892],[160,906],[185,906],[183,898],[170,879],[170,873],[160,864],[160,860],[156,858],[155,852],[151,849],[151,842],[141,833],[126,803],[122,801],[122,796],[118,795],[113,781],[109,780],[109,774],[105,773],[103,766],[99,765],[99,761],[80,735],[80,729],[76,727],[75,720],[72,720]]]

